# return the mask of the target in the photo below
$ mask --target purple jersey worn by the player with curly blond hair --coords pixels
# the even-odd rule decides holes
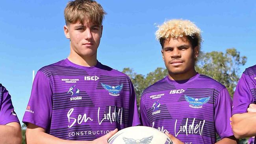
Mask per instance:
[[[197,74],[182,81],[167,76],[144,90],[141,123],[185,144],[214,144],[215,129],[221,139],[233,135],[231,106],[228,90],[208,76]]]

